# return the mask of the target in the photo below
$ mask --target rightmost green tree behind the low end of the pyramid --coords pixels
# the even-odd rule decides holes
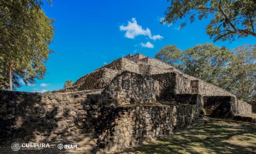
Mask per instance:
[[[227,76],[231,78],[229,91],[246,102],[256,97],[256,45],[244,45],[232,50],[235,57],[230,61]]]

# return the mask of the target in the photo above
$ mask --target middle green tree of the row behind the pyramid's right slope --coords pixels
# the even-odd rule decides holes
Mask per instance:
[[[202,79],[208,83],[223,87],[228,77],[225,76],[233,53],[227,48],[214,46],[211,43],[199,44],[184,50],[181,71]]]

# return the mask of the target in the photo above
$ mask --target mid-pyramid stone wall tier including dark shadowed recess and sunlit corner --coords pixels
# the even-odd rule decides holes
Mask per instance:
[[[190,94],[190,80],[178,72],[141,75],[123,71],[102,92],[107,104],[123,105],[175,101],[177,94]]]

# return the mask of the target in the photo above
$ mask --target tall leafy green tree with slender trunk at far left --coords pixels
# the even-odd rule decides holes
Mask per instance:
[[[33,84],[46,73],[54,27],[41,5],[40,0],[0,0],[0,77],[4,83],[9,79],[0,83],[2,89],[20,87],[19,79]]]

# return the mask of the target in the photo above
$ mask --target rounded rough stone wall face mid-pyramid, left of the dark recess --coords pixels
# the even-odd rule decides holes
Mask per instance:
[[[159,83],[148,75],[123,71],[102,92],[116,105],[155,102],[159,95]]]

